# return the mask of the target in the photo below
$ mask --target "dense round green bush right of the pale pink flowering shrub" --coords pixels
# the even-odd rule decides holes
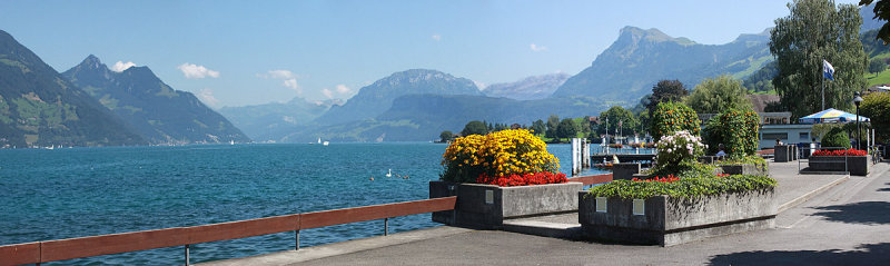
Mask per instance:
[[[711,151],[716,152],[723,144],[730,157],[741,158],[758,150],[760,117],[750,109],[729,109],[708,121],[704,130]]]

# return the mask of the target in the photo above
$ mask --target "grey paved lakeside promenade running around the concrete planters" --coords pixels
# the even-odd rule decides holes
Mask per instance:
[[[868,177],[798,175],[779,181],[777,228],[672,247],[576,242],[442,226],[206,265],[887,265],[890,164]],[[534,221],[534,220],[533,220]],[[537,219],[571,229],[572,216]]]

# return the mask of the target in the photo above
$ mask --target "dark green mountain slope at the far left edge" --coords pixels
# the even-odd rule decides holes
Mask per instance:
[[[145,144],[117,116],[0,30],[0,148]]]

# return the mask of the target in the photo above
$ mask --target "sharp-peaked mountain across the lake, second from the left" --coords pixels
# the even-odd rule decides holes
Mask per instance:
[[[156,145],[250,141],[195,95],[175,90],[148,67],[115,72],[90,55],[62,73]]]

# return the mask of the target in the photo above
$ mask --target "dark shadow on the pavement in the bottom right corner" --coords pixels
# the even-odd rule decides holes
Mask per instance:
[[[711,265],[881,265],[890,259],[890,243],[866,244],[857,250],[775,250],[716,255]],[[884,264],[886,265],[886,264]]]

